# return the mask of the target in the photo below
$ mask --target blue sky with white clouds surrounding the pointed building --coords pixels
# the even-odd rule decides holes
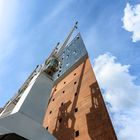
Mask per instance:
[[[0,106],[78,20],[118,138],[139,140],[139,4],[140,0],[0,0]]]

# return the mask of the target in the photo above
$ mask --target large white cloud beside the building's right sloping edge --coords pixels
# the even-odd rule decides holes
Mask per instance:
[[[135,85],[135,77],[129,73],[129,68],[109,53],[94,60],[94,71],[104,89],[104,99],[111,105],[109,109],[119,140],[140,139],[140,86]]]

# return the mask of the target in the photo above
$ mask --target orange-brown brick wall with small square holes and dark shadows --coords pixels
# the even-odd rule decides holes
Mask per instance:
[[[43,126],[58,140],[117,140],[89,59],[54,86]]]

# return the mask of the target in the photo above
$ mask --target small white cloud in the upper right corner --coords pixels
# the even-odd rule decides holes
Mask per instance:
[[[124,29],[133,33],[133,42],[140,41],[140,4],[133,6],[127,3],[122,21]]]

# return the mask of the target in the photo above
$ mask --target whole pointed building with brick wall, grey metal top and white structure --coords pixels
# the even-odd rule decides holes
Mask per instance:
[[[0,140],[117,140],[76,28],[3,107]]]

